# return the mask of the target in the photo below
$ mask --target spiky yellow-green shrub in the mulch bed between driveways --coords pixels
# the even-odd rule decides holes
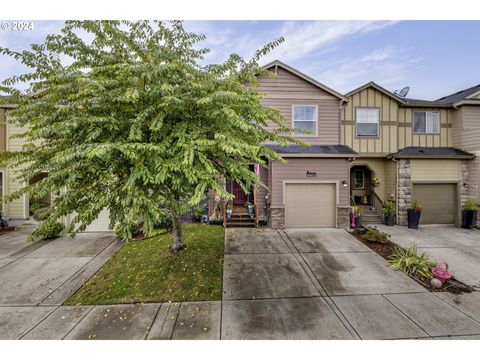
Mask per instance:
[[[409,276],[420,276],[428,279],[432,277],[432,269],[435,267],[435,263],[426,252],[418,255],[416,246],[408,249],[397,247],[389,258],[392,269],[402,270]]]

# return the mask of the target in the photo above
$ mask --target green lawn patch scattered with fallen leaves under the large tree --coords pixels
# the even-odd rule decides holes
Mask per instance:
[[[187,248],[172,253],[172,234],[125,244],[66,304],[221,300],[223,227],[183,226]]]

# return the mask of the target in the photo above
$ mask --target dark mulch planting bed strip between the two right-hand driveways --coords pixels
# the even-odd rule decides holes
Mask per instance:
[[[368,232],[368,229],[373,229]],[[368,232],[368,233],[367,233]],[[381,231],[377,230],[376,228],[361,228],[359,230],[351,231],[351,234],[357,238],[360,242],[364,245],[375,251],[378,255],[383,257],[387,261],[392,260],[392,256],[395,252],[400,250],[405,250],[402,247],[398,246],[397,244],[391,242],[388,238],[389,235],[382,233]],[[429,291],[435,292],[449,292],[452,294],[461,294],[464,292],[472,292],[473,289],[468,285],[463,284],[462,282],[456,280],[452,277],[448,280],[441,288],[435,288],[431,285],[430,280],[431,278],[427,276],[423,276],[421,274],[406,274],[411,279],[415,280],[417,283],[422,285],[425,289]]]

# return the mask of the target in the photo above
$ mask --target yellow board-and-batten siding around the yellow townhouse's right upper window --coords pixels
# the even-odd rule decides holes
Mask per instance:
[[[440,113],[439,134],[414,134],[413,113],[415,111],[438,111]],[[453,146],[453,119],[451,109],[435,108],[399,108],[398,112],[398,146],[399,149],[408,146],[451,147]]]

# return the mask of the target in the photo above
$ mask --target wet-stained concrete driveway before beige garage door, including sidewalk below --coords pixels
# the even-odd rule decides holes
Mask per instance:
[[[225,253],[222,339],[480,338],[474,299],[454,306],[344,230],[227,229]]]

